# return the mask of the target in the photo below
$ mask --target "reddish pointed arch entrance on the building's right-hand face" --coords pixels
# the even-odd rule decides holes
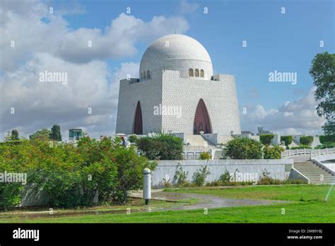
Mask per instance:
[[[212,133],[211,120],[209,119],[208,111],[204,100],[200,99],[196,107],[196,114],[194,116],[193,134],[199,135],[200,131],[205,134]]]

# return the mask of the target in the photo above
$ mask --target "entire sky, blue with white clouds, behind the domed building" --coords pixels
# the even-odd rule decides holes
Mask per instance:
[[[50,6],[52,15],[47,13]],[[282,7],[286,13],[281,13]],[[241,113],[242,129],[255,131],[263,126],[281,134],[321,132],[323,122],[315,114],[308,71],[317,53],[334,53],[334,1],[5,0],[0,8],[6,13],[0,23],[4,42],[18,44],[15,53],[1,47],[1,59],[6,62],[1,64],[0,83],[8,88],[4,105],[16,105],[22,112],[15,117],[1,112],[1,134],[16,127],[28,136],[52,124],[61,124],[64,134],[76,127],[93,136],[112,134],[118,78],[128,71],[138,76],[146,47],[175,30],[204,45],[214,74],[235,75],[240,110],[247,109],[247,115]],[[88,53],[82,45],[89,39],[101,49],[95,46]],[[243,40],[247,47],[242,47]],[[319,46],[320,40],[324,47]],[[34,87],[32,79],[45,68],[69,70],[74,83],[57,92],[54,86],[52,90],[40,84]],[[297,84],[270,83],[269,73],[275,70],[297,73]],[[20,93],[13,93],[17,88]],[[37,100],[41,92],[46,96]],[[54,98],[62,100],[54,103]],[[90,105],[96,115],[81,111]]]

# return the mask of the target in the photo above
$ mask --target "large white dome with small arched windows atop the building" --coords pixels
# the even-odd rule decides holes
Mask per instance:
[[[144,76],[144,72],[149,71],[149,78],[152,78],[163,69],[180,71],[183,78],[210,80],[213,76],[211,57],[204,46],[194,38],[180,34],[158,38],[143,54],[141,79],[148,77]],[[190,76],[189,69],[192,69],[194,76]]]

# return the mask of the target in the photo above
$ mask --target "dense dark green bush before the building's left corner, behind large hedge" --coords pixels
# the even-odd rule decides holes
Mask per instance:
[[[136,140],[136,146],[149,160],[182,160],[182,139],[172,134],[144,136]]]

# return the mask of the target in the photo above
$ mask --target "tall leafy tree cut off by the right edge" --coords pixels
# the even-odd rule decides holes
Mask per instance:
[[[315,99],[319,100],[317,115],[324,117],[326,123],[322,127],[325,134],[335,134],[335,54],[324,52],[317,54],[312,60],[310,75],[314,80]]]

